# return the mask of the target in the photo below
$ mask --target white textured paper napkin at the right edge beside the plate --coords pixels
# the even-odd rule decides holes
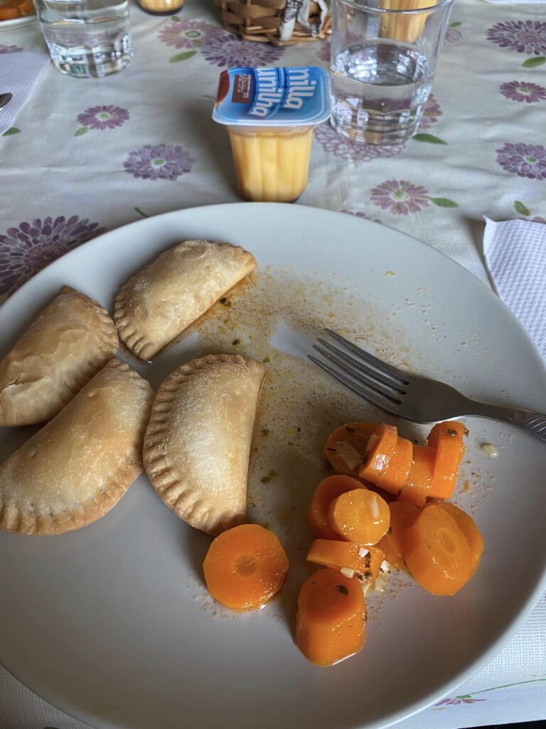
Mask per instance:
[[[546,356],[546,224],[485,220],[483,254],[496,292]]]

